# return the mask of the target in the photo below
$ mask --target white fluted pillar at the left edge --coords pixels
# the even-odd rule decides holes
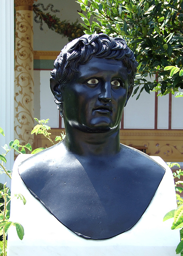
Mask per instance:
[[[5,138],[0,134],[1,146],[14,140],[14,0],[0,0],[0,126]],[[7,154],[6,168],[12,170],[13,150]],[[10,186],[6,174],[0,175],[0,182]]]

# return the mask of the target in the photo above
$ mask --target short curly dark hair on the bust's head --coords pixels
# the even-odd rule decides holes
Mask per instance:
[[[68,43],[54,62],[51,78],[65,86],[74,73],[79,72],[79,65],[86,64],[92,57],[121,60],[128,69],[129,85],[134,84],[138,62],[133,52],[124,39],[107,34],[84,35]]]

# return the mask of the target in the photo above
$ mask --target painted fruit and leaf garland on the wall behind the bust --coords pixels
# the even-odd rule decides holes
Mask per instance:
[[[48,28],[51,30],[55,30],[56,33],[64,35],[68,37],[69,41],[72,41],[75,38],[78,38],[84,34],[84,28],[82,25],[76,22],[68,22],[67,20],[61,21],[60,18],[56,17],[56,15],[51,15],[50,12],[44,13],[42,10],[38,8],[38,6],[42,6],[42,9],[48,10],[50,7],[51,12],[60,12],[59,10],[53,10],[53,4],[48,4],[46,8],[44,8],[43,4],[33,4],[33,11],[36,14],[34,17],[34,21],[36,23],[40,23],[40,30],[43,30],[42,25],[43,21],[48,25]],[[39,20],[38,20],[39,19]]]

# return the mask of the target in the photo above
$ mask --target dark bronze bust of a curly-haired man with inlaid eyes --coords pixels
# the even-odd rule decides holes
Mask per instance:
[[[93,34],[68,43],[50,78],[66,138],[18,168],[31,194],[86,239],[112,238],[132,228],[165,173],[149,156],[119,142],[136,70],[121,38]]]

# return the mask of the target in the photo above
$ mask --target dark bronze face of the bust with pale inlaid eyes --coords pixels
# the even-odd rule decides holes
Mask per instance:
[[[85,132],[119,128],[128,92],[128,70],[121,61],[93,57],[79,66],[63,89],[63,115],[69,124]]]

